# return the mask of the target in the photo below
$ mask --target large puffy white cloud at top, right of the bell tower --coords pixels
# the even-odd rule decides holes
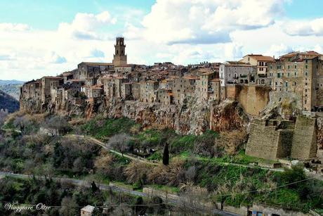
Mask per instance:
[[[159,0],[143,19],[143,37],[167,44],[230,42],[232,30],[266,27],[282,13],[281,0]]]

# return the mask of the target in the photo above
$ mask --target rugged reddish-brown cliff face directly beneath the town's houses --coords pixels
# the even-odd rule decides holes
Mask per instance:
[[[26,102],[22,101],[23,106],[28,107],[26,111],[29,113],[48,111],[60,115],[83,115],[87,118],[100,113],[110,118],[128,117],[146,128],[174,129],[178,134],[202,134],[207,129],[215,131],[245,129],[249,122],[241,106],[234,101],[216,104],[189,98],[180,106],[166,106],[162,103],[99,98],[59,107],[54,103],[48,103],[42,108],[39,106],[32,108],[32,103]]]

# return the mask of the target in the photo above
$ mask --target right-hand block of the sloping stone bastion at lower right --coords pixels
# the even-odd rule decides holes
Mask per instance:
[[[296,119],[291,158],[315,158],[317,153],[316,119],[298,115]]]

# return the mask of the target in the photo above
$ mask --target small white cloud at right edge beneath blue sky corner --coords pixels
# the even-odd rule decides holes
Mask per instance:
[[[323,18],[315,20],[290,20],[284,25],[284,32],[291,36],[323,36]]]

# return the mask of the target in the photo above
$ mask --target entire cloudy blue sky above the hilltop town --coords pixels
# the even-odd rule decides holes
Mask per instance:
[[[0,0],[0,80],[112,62],[117,36],[125,37],[128,63],[147,65],[323,53],[322,6],[321,0]]]

